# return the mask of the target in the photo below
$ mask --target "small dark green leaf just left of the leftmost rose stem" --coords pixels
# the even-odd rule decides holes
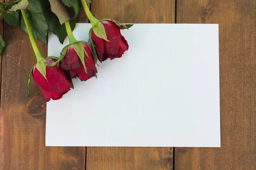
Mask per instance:
[[[3,13],[3,18],[6,23],[12,26],[20,26],[20,10],[18,11],[9,11],[12,8],[13,4],[6,6],[6,11]]]

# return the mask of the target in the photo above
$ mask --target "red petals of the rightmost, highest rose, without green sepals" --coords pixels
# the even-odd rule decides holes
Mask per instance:
[[[102,62],[108,58],[114,59],[122,57],[122,54],[128,50],[129,45],[125,37],[121,35],[119,26],[112,21],[101,21],[100,23],[102,23],[105,28],[109,42],[97,37],[94,31],[92,31],[91,37],[99,61]]]

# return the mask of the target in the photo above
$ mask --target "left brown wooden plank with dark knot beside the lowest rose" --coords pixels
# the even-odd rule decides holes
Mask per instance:
[[[85,147],[45,147],[46,103],[34,80],[26,98],[25,80],[36,63],[28,35],[20,27],[5,23],[4,37],[1,170],[84,170]],[[47,45],[36,43],[46,57]]]

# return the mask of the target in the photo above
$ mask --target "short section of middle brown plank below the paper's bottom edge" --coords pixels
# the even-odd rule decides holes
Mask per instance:
[[[172,147],[87,147],[86,170],[172,170]]]

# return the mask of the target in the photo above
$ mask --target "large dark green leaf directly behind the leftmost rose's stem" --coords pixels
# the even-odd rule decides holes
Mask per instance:
[[[44,15],[35,14],[29,10],[26,10],[26,16],[28,18],[33,36],[36,39],[41,40],[47,44],[48,26],[45,21]],[[20,26],[27,33],[27,29],[26,29],[23,17],[21,17]]]

